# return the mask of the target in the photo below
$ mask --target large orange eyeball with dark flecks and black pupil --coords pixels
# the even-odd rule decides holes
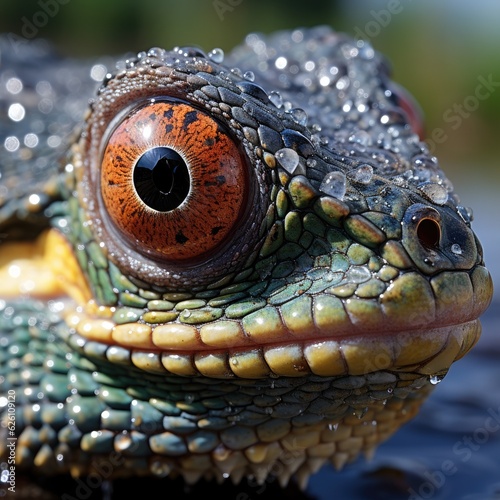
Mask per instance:
[[[106,211],[136,250],[171,261],[216,250],[248,196],[247,165],[220,123],[180,101],[130,113],[101,167]]]

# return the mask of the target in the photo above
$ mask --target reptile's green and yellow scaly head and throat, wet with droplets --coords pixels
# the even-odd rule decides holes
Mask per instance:
[[[225,61],[151,49],[106,77],[55,181],[6,157],[3,459],[15,436],[44,474],[305,484],[412,418],[492,284],[398,96],[326,28]],[[186,166],[176,206],[134,178],[156,147]],[[16,228],[44,221],[20,259]]]

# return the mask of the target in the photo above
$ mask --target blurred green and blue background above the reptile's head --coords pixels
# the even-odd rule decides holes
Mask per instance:
[[[229,51],[248,32],[317,24],[369,39],[420,103],[429,136],[442,129],[434,152],[463,203],[474,208],[474,228],[500,285],[500,1],[3,0],[0,6],[1,32],[21,41],[46,38],[63,54],[84,58],[152,46]]]

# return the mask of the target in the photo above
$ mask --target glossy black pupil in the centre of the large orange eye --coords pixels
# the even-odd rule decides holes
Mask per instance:
[[[148,207],[168,212],[186,199],[190,187],[189,170],[174,149],[152,148],[139,158],[134,167],[134,186]]]

